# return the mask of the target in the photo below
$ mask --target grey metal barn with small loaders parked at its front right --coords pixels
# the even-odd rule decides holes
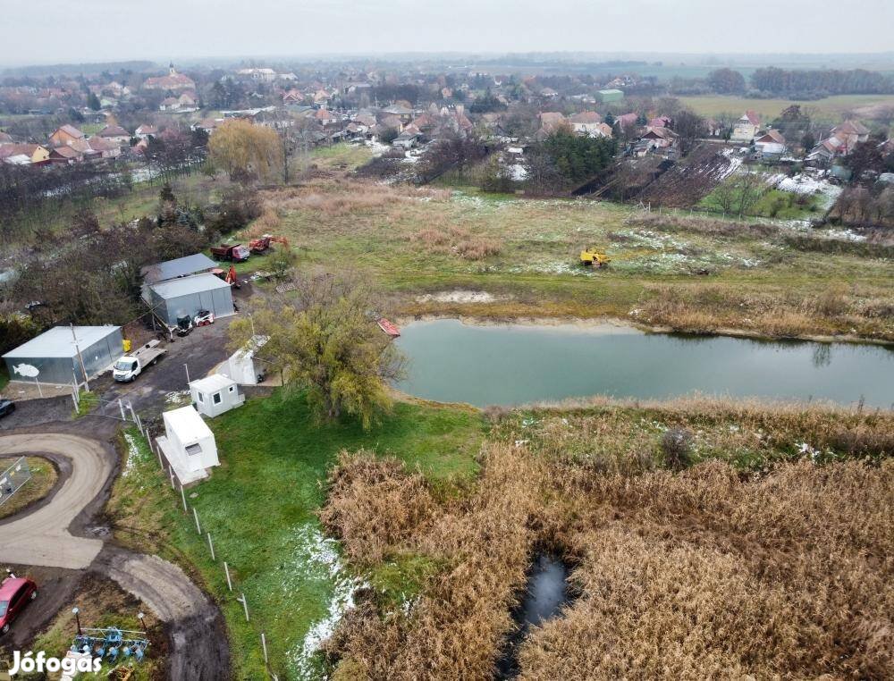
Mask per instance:
[[[210,310],[215,317],[234,314],[230,284],[214,274],[195,274],[149,286],[149,304],[172,326],[177,318],[195,316],[199,310]]]

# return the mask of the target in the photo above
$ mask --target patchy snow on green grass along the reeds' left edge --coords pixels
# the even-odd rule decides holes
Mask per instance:
[[[299,592],[308,582],[324,582],[333,587],[323,618],[314,622],[304,639],[288,653],[294,677],[309,681],[318,676],[314,654],[333,635],[344,614],[354,607],[354,593],[366,584],[348,574],[338,552],[338,542],[325,537],[316,526],[300,525],[293,539],[295,560],[283,578],[286,597]]]

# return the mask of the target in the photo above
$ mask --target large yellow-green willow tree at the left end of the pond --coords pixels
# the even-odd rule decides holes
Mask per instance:
[[[324,420],[342,415],[368,429],[392,406],[388,382],[401,376],[403,359],[377,324],[368,282],[321,274],[297,283],[294,306],[262,301],[230,326],[231,347],[266,336],[261,354],[291,389],[307,389]]]

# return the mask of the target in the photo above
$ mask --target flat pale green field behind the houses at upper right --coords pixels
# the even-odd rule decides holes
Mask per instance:
[[[801,105],[814,119],[830,121],[839,121],[843,114],[861,106],[876,104],[894,106],[894,95],[838,95],[811,101],[726,96],[679,97],[679,99],[692,107],[696,114],[703,116],[741,114],[746,109],[752,109],[765,119],[775,118],[784,108],[792,104]]]

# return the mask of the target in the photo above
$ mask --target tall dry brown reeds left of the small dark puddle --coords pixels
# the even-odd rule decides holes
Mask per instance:
[[[392,551],[422,553],[446,567],[429,580],[409,611],[383,613],[375,601],[363,601],[350,611],[331,642],[333,655],[341,660],[336,677],[490,677],[535,538],[529,519],[537,499],[532,483],[542,478],[536,460],[493,446],[477,491],[467,499],[443,501],[439,512],[400,544],[392,541],[401,534],[393,532],[392,521],[376,521],[373,531],[379,539],[369,542],[352,531],[369,521],[353,516],[375,507],[386,515],[413,517],[416,495],[397,495],[384,509],[372,499],[382,489],[377,474],[368,475],[367,463],[347,460],[342,465],[324,517],[349,555],[366,562],[387,545]],[[412,476],[398,479],[397,487],[415,488]]]

